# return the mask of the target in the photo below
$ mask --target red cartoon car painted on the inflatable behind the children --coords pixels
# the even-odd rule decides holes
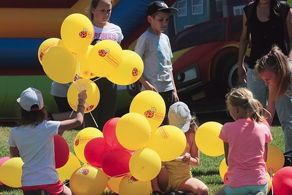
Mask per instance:
[[[244,85],[237,76],[241,31],[242,16],[231,16],[196,24],[173,39],[172,65],[178,96],[195,112],[225,110],[228,90]],[[128,90],[134,92],[136,88]]]

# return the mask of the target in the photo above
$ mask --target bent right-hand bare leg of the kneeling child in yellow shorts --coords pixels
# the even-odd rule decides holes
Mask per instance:
[[[194,193],[196,195],[209,195],[208,187],[201,180],[193,177],[185,179],[181,183],[179,190]]]

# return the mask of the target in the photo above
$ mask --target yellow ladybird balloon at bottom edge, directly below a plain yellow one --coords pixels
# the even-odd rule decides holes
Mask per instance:
[[[151,181],[140,181],[131,174],[123,177],[119,185],[119,195],[149,195]]]

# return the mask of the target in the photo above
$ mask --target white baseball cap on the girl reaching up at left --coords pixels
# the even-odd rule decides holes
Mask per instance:
[[[30,112],[38,111],[44,107],[43,98],[41,92],[35,88],[29,87],[24,90],[20,98],[17,99],[17,102],[20,104],[21,108]],[[37,105],[37,108],[32,108],[33,105]]]

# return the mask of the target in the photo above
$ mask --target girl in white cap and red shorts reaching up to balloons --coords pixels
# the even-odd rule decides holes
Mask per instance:
[[[54,136],[58,131],[73,129],[82,124],[86,90],[78,94],[76,115],[63,121],[47,120],[41,92],[34,88],[24,90],[18,103],[18,126],[10,131],[9,146],[12,157],[20,156],[21,185],[24,195],[74,195],[59,180],[55,170]]]

